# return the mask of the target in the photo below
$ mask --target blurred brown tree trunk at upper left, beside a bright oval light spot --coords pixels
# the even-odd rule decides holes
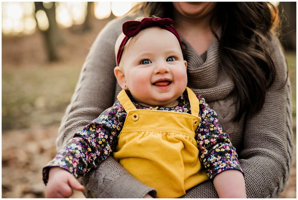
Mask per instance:
[[[59,56],[57,52],[57,46],[63,42],[63,38],[60,33],[60,29],[56,21],[55,2],[51,8],[47,9],[44,7],[43,2],[34,2],[35,14],[38,10],[44,10],[49,20],[49,28],[45,31],[41,30],[44,35],[46,50],[48,54],[48,60],[50,62],[57,61]],[[37,21],[37,20],[36,20]]]

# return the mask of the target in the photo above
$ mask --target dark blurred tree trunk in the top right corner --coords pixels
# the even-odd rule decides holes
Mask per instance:
[[[280,2],[282,21],[281,43],[285,50],[296,51],[296,2]]]

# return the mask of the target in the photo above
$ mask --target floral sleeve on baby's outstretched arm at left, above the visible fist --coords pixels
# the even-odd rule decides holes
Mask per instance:
[[[44,184],[48,182],[49,168],[60,167],[75,177],[83,176],[96,168],[111,153],[122,130],[126,113],[117,101],[100,116],[86,125],[43,168]]]

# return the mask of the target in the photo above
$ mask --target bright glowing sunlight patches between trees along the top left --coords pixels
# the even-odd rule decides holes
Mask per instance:
[[[94,15],[97,19],[108,18],[111,12],[117,17],[126,14],[137,2],[94,2]],[[46,9],[54,4],[44,1]],[[87,14],[87,2],[56,2],[56,20],[60,27],[71,27],[82,24]],[[37,23],[36,23],[37,20]],[[39,10],[36,13],[34,2],[2,2],[2,33],[31,34],[36,26],[41,30],[49,28],[46,13]]]

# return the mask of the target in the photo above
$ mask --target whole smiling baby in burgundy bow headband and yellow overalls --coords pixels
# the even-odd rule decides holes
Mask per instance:
[[[123,90],[44,167],[47,197],[83,190],[75,177],[113,152],[129,173],[157,190],[158,198],[178,198],[208,179],[220,198],[246,198],[229,136],[215,111],[187,87],[187,62],[172,23],[143,18],[123,24],[114,69]]]

